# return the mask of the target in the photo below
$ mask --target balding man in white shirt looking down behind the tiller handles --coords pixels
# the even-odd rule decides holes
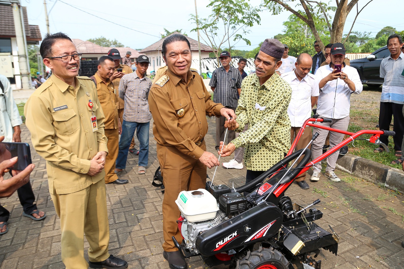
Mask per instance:
[[[292,99],[288,107],[290,118],[290,143],[298,134],[305,120],[311,116],[311,108],[317,103],[320,90],[316,83],[315,76],[310,74],[313,60],[307,53],[302,53],[297,57],[295,70],[282,74],[282,78],[292,87]],[[296,145],[296,150],[304,149],[311,140],[311,129],[307,127],[301,135]],[[310,147],[309,147],[310,148]],[[300,161],[300,160],[299,160]],[[305,181],[306,173],[295,179],[295,182],[302,188],[308,189],[309,184]]]

